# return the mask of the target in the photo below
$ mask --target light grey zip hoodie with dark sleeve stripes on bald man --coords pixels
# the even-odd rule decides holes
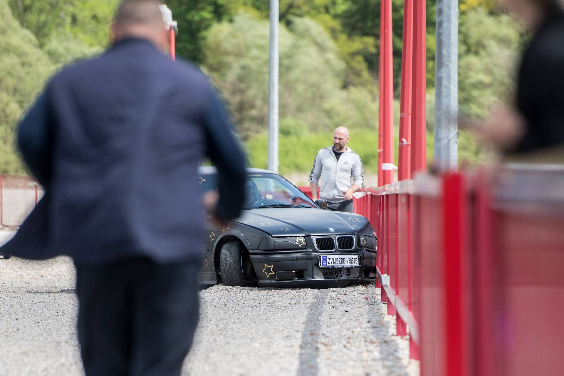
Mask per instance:
[[[351,176],[352,184],[362,188],[364,170],[360,156],[347,147],[337,161],[333,149],[324,147],[315,156],[314,166],[310,173],[310,183],[319,184],[319,177],[321,177],[319,198],[337,203],[345,200],[345,191],[352,185]]]

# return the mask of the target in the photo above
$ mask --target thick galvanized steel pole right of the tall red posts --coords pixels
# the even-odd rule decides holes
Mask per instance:
[[[441,172],[458,165],[458,1],[437,0],[434,164]]]

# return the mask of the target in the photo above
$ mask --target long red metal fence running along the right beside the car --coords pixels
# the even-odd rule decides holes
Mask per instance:
[[[564,166],[364,191],[355,211],[378,236],[377,287],[421,375],[562,374]]]

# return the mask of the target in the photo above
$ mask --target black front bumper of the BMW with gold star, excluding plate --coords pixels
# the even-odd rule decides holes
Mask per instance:
[[[332,253],[360,255],[361,265],[355,268],[319,268],[318,256]],[[373,282],[376,278],[376,252],[298,252],[253,254],[258,285],[263,287],[343,287]]]

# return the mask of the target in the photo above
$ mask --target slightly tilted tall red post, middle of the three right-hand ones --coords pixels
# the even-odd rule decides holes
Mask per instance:
[[[400,93],[398,180],[411,178],[411,93],[413,75],[413,0],[403,3],[402,91]]]

